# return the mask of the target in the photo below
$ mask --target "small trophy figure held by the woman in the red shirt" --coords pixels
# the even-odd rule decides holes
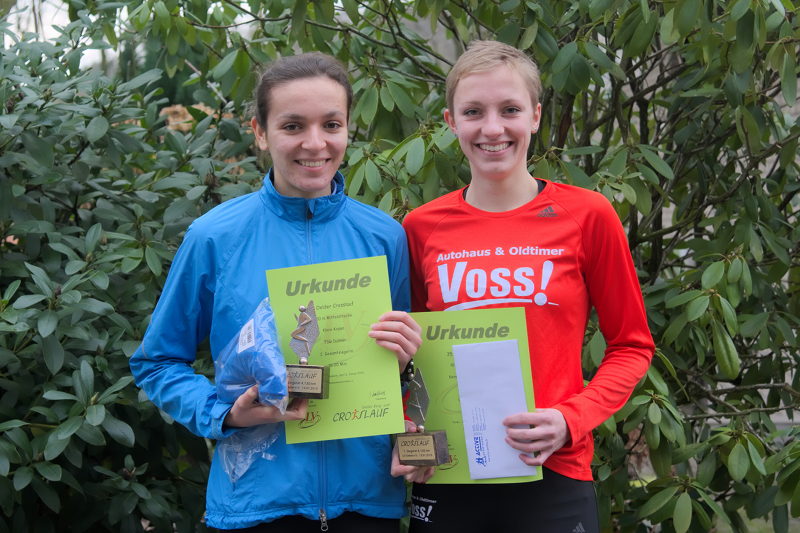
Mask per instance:
[[[444,431],[425,431],[425,415],[428,412],[428,389],[417,369],[408,383],[409,398],[406,414],[417,425],[416,433],[400,433],[397,438],[397,453],[400,464],[410,466],[437,466],[450,461],[447,450],[447,434]]]

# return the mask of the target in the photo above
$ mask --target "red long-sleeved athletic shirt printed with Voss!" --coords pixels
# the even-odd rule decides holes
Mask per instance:
[[[592,429],[625,404],[654,345],[614,208],[599,193],[545,183],[532,201],[502,213],[469,205],[464,189],[409,213],[411,306],[524,307],[536,406],[561,411],[571,435],[545,465],[590,480]],[[584,387],[581,349],[592,306],[607,348]]]

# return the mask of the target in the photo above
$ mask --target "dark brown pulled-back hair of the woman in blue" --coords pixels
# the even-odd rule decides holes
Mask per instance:
[[[253,95],[255,116],[258,125],[267,129],[270,94],[272,89],[304,78],[323,76],[342,86],[347,95],[348,114],[353,103],[353,88],[347,79],[347,70],[336,58],[321,52],[309,52],[296,56],[276,59],[261,73],[258,86]]]

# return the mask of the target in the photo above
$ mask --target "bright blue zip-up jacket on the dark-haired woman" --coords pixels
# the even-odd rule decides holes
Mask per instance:
[[[214,357],[267,294],[265,271],[386,255],[392,302],[408,310],[408,250],[400,225],[348,198],[337,173],[334,192],[307,200],[261,190],[227,201],[189,227],[167,276],[142,344],[130,361],[136,384],[193,433],[221,439],[235,429],[222,421],[232,404],[192,369],[206,337]],[[377,320],[378,317],[375,317]],[[214,454],[206,522],[236,529],[286,515],[324,521],[345,511],[380,518],[404,512],[402,478],[389,474],[387,436],[286,445],[283,424],[270,459],[257,457],[231,483]]]

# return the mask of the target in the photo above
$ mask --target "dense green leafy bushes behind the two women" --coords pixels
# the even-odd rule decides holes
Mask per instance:
[[[658,352],[596,431],[604,527],[800,515],[800,431],[773,422],[800,404],[791,0],[64,3],[50,42],[0,24],[0,531],[204,530],[213,444],[127,358],[191,220],[260,185],[255,65],[348,66],[348,192],[401,218],[468,180],[441,110],[473,38],[539,63],[531,170],[605,194],[640,272]],[[120,52],[115,74],[80,67],[98,49]],[[208,107],[182,131],[159,115],[175,103]],[[590,323],[587,378],[604,347]]]

